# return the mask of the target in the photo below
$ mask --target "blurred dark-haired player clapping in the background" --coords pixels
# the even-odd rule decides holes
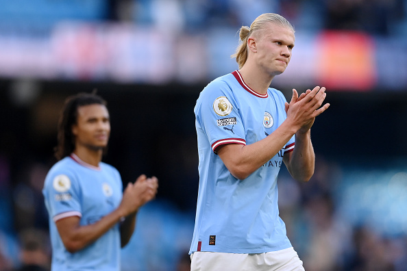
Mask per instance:
[[[123,192],[118,170],[101,162],[110,118],[96,94],[66,99],[56,157],[42,193],[49,213],[51,270],[120,270],[138,209],[156,195],[158,179],[141,175]]]

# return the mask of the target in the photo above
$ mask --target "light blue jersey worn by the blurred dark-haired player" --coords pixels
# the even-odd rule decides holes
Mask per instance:
[[[123,194],[116,168],[103,162],[90,166],[73,154],[49,170],[42,194],[49,214],[51,270],[120,270],[119,224],[76,253],[65,249],[55,224],[68,216],[79,216],[81,225],[93,224],[116,209]]]

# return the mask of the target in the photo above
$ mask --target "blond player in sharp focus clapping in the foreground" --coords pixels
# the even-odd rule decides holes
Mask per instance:
[[[199,191],[191,270],[304,270],[277,207],[277,175],[314,172],[310,128],[325,88],[290,103],[271,81],[291,60],[294,29],[278,14],[240,28],[239,70],[214,79],[195,105]]]

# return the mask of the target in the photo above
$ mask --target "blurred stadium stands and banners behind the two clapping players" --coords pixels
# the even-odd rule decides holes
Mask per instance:
[[[193,107],[237,68],[237,31],[276,12],[296,29],[273,87],[328,88],[317,168],[282,168],[280,213],[307,271],[407,270],[406,0],[0,0],[0,271],[49,266],[42,183],[66,96],[108,101],[104,161],[156,175],[123,271],[189,270],[198,187]],[[394,145],[394,146],[393,146]],[[23,257],[22,257],[23,256]]]

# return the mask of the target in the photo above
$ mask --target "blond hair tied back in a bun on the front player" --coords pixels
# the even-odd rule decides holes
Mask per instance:
[[[242,26],[239,31],[240,42],[236,49],[236,53],[231,55],[231,57],[236,57],[236,62],[239,65],[239,68],[242,68],[247,60],[247,39],[257,30],[261,30],[268,23],[275,23],[283,27],[287,27],[295,32],[293,25],[286,20],[283,16],[275,13],[264,13],[258,16],[250,27]]]

